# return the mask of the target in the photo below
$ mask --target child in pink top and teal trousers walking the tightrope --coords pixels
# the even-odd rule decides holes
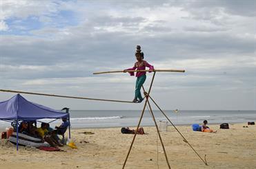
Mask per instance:
[[[149,67],[150,70],[154,70],[154,67],[152,65],[149,65],[146,60],[144,59],[144,53],[141,52],[141,47],[137,45],[137,51],[135,53],[136,59],[138,60],[137,63],[135,63],[134,67],[130,69],[125,69],[124,72],[128,70],[145,70],[146,67]],[[151,72],[151,71],[150,71]],[[134,76],[134,72],[128,72],[130,76]],[[146,80],[146,71],[137,71],[136,73],[136,85],[135,85],[135,99],[132,100],[132,102],[142,102],[144,98],[141,96],[141,87],[144,84]]]

